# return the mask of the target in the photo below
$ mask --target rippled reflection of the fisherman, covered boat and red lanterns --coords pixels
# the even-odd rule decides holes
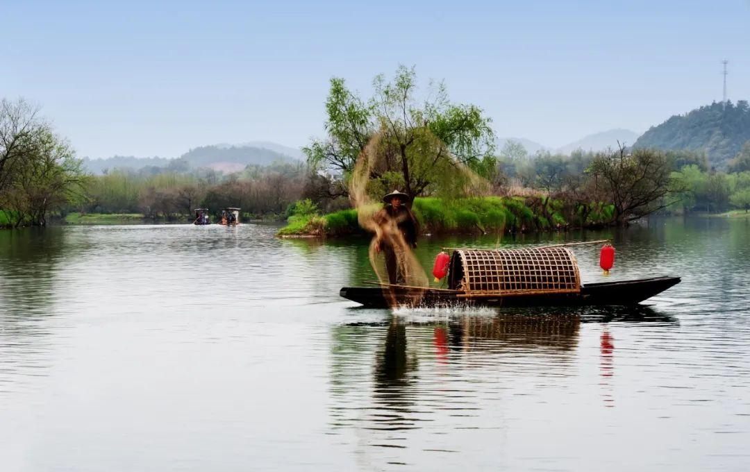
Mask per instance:
[[[491,413],[498,414],[511,396],[550,387],[562,392],[580,375],[577,351],[584,324],[604,323],[607,333],[609,321],[676,323],[647,306],[425,318],[419,311],[397,310],[380,322],[332,328],[332,434],[354,429],[365,450],[399,449],[407,447],[410,430],[443,435],[465,426],[466,417],[487,427],[485,410],[493,402],[499,410],[490,408]],[[605,376],[613,375],[614,350],[612,336],[606,336],[599,383],[610,406],[613,395]],[[502,419],[491,427],[502,429]],[[434,447],[434,441],[429,444]],[[408,447],[419,447],[412,435]]]

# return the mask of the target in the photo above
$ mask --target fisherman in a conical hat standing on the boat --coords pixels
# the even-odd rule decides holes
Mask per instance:
[[[383,197],[386,205],[374,217],[378,226],[375,251],[383,251],[388,278],[394,285],[406,283],[404,253],[417,246],[419,223],[407,207],[410,202],[410,196],[394,190]]]

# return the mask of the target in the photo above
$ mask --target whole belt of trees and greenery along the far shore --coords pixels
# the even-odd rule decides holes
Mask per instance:
[[[303,149],[306,163],[232,174],[173,160],[91,175],[37,107],[1,100],[0,226],[44,226],[81,214],[185,223],[193,208],[239,206],[245,218],[289,218],[288,234],[355,232],[350,181],[368,145],[379,156],[368,193],[410,193],[427,231],[613,226],[655,212],[750,208],[750,143],[728,172],[711,169],[704,154],[625,143],[529,156],[514,141],[496,149],[478,106],[452,103],[442,83],[421,91],[413,68],[399,67],[390,80],[377,76],[373,89],[365,99],[332,79],[326,136]]]

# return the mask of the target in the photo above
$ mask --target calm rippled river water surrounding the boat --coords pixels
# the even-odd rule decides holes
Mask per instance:
[[[1,469],[750,469],[750,220],[420,241],[613,237],[640,309],[362,309],[366,240],[276,229],[0,232]]]

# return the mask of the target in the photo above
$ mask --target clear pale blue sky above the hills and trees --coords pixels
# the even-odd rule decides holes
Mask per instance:
[[[548,146],[750,98],[750,1],[0,0],[0,96],[43,106],[80,156],[305,145],[331,76],[368,94],[416,65],[498,136]]]

